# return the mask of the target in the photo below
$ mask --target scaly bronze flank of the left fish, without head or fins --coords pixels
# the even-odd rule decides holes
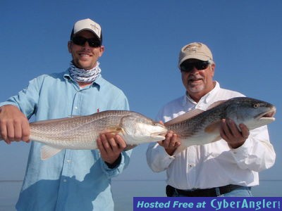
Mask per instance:
[[[54,121],[32,122],[30,139],[68,148],[96,148],[94,140],[99,134],[119,129],[121,118],[130,114],[132,113],[127,110],[114,110]],[[54,144],[50,143],[51,141],[54,141]],[[70,143],[73,143],[73,147],[69,146]]]

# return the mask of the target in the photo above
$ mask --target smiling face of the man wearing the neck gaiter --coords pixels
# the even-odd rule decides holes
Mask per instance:
[[[82,31],[75,36],[85,37],[86,39],[95,38],[90,31]],[[84,45],[79,46],[73,41],[68,41],[68,51],[73,57],[73,64],[80,69],[91,70],[97,65],[97,60],[104,52],[104,46],[91,47],[86,41]]]

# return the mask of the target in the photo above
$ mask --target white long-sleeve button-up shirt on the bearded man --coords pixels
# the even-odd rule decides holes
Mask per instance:
[[[157,120],[167,122],[189,110],[206,110],[216,101],[238,96],[243,94],[221,89],[216,82],[216,87],[198,103],[185,95],[166,104],[159,111]],[[258,185],[258,172],[274,165],[275,158],[266,126],[251,130],[243,146],[235,149],[230,148],[223,139],[202,146],[190,146],[173,156],[168,155],[158,143],[151,143],[147,148],[149,167],[154,172],[166,170],[167,184],[183,190],[228,184]]]

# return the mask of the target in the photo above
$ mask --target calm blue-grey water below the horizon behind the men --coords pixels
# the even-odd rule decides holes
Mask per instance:
[[[0,211],[15,211],[22,181],[0,181]],[[164,180],[113,180],[115,211],[133,210],[133,196],[165,196]],[[282,196],[282,180],[262,180],[254,196]]]

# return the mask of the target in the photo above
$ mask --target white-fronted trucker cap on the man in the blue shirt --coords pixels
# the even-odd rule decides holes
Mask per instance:
[[[73,31],[71,32],[71,39],[73,38],[73,35],[83,30],[93,32],[102,43],[102,28],[99,23],[94,22],[90,18],[78,20],[78,22],[75,23]]]

